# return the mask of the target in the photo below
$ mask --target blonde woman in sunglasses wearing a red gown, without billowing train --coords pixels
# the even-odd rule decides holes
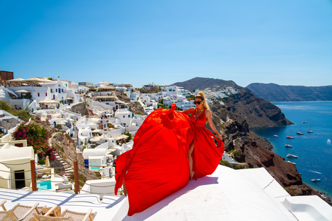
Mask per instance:
[[[196,104],[196,108],[189,108],[183,111],[186,115],[191,115],[190,120],[194,124],[195,128],[194,140],[190,144],[188,152],[190,180],[193,178],[197,180],[199,177],[213,173],[221,160],[221,156],[223,155],[223,148],[220,148],[223,146],[222,138],[212,122],[210,107],[208,102],[205,100],[203,92],[196,95],[194,104]],[[214,135],[212,135],[212,133],[205,128],[206,121],[208,121],[210,128],[219,138],[218,146],[215,146],[213,140],[211,139],[211,136],[214,137]],[[213,156],[213,159],[206,161],[206,155]],[[204,161],[206,161],[205,164],[200,163]]]

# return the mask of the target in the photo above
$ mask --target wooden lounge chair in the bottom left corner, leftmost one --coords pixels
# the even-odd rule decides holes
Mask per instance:
[[[0,211],[0,220],[3,221],[12,221],[12,220],[30,220],[30,218],[33,218],[33,215],[35,214],[41,214],[42,209],[44,209],[46,206],[38,206],[39,203],[37,202],[33,206],[24,206],[21,204],[16,204],[12,209],[9,211],[6,209],[5,204],[6,200],[3,200],[1,202],[0,206],[2,207],[3,211]],[[37,207],[38,206],[38,207]]]

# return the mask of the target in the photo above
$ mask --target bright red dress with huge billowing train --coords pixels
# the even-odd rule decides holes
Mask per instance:
[[[208,129],[203,132],[204,124],[203,128],[198,124],[201,122],[200,118],[192,124],[187,115],[176,112],[175,108],[172,105],[169,110],[157,109],[149,114],[133,139],[133,148],[122,153],[116,160],[115,193],[117,194],[124,180],[129,200],[128,215],[144,211],[187,185],[190,176],[188,151],[193,139],[193,159],[199,160],[193,167],[195,174],[197,173],[194,175],[195,179],[213,173],[219,164],[223,151],[219,154],[220,157],[214,151],[196,151],[196,146],[210,149],[213,144],[216,148],[210,136],[194,137],[195,133],[199,136],[212,133]],[[199,145],[196,142],[205,144]],[[213,153],[211,156],[201,156],[210,152]],[[211,159],[214,157],[218,159]],[[213,170],[213,166],[201,165],[212,163],[215,164]]]

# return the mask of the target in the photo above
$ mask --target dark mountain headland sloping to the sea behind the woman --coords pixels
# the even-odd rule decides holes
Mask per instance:
[[[238,86],[234,81],[224,81],[221,79],[195,77],[193,79],[174,83],[187,90],[204,90],[205,88],[226,88],[232,87],[237,90],[236,94],[228,95],[221,99],[227,106],[228,111],[246,119],[250,128],[266,126],[286,126],[293,124],[286,119],[284,113],[265,99],[259,98],[250,90]]]

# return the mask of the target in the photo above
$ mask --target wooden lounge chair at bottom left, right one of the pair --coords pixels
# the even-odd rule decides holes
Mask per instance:
[[[35,214],[35,221],[92,221],[97,215],[97,212],[92,213],[92,209],[89,209],[87,213],[79,213],[75,211],[70,211],[68,209],[64,210],[59,217],[49,216],[53,213],[53,210],[57,209],[57,205],[53,206],[45,215]]]

